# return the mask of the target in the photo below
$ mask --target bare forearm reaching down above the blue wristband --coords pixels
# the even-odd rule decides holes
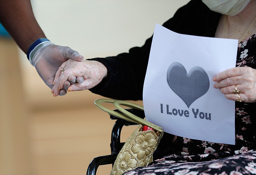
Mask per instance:
[[[25,53],[37,38],[45,38],[36,22],[30,0],[1,0],[0,22]]]

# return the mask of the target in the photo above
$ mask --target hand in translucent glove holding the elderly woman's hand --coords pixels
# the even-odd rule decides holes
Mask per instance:
[[[29,61],[36,67],[36,71],[43,79],[44,83],[52,89],[54,76],[58,68],[63,62],[70,58],[77,61],[84,59],[83,56],[69,47],[55,45],[47,41],[37,46],[35,50],[31,52]],[[73,81],[76,80],[73,79]],[[58,95],[65,95],[66,93],[66,90],[61,89]]]

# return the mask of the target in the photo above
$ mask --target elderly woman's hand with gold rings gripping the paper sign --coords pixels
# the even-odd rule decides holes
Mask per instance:
[[[213,77],[214,88],[220,89],[230,100],[256,102],[256,70],[250,67],[237,67],[225,70]],[[235,87],[239,93],[234,93]]]

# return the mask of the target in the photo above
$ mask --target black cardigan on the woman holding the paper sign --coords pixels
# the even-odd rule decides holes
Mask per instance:
[[[163,26],[181,34],[214,37],[219,18],[220,14],[210,11],[201,0],[192,0]],[[99,61],[108,69],[108,77],[90,91],[112,99],[141,100],[152,37],[129,53],[88,59]]]

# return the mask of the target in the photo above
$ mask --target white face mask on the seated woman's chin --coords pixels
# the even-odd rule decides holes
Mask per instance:
[[[202,0],[212,11],[235,16],[242,12],[250,0]]]

